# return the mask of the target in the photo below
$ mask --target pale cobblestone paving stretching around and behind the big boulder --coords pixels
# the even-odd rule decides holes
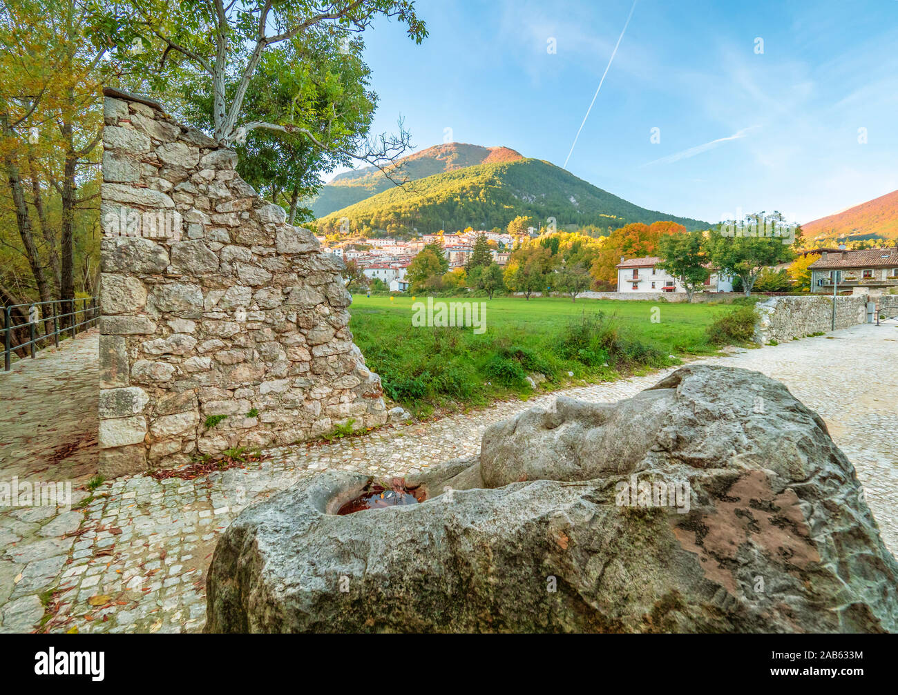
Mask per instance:
[[[95,337],[84,343],[92,343],[96,350]],[[76,342],[71,347],[83,357],[84,345]],[[832,438],[857,468],[892,552],[898,551],[896,358],[898,330],[865,325],[703,360],[762,371],[784,382],[821,414]],[[35,379],[46,378],[50,383],[49,362],[22,365],[21,373],[31,368]],[[211,473],[195,481],[156,482],[140,475],[106,482],[80,511],[57,514],[52,508],[6,508],[0,511],[0,631],[35,630],[41,619],[48,620],[44,629],[52,632],[201,630],[206,614],[205,576],[216,539],[247,504],[328,468],[405,475],[449,458],[476,454],[483,430],[491,422],[549,403],[561,393],[616,401],[655,384],[672,370],[568,388],[527,402],[497,403],[481,411],[387,427],[331,444],[273,449],[271,458],[261,464]],[[80,378],[90,387],[96,383],[86,377],[73,381]],[[4,412],[8,410],[7,387],[12,383],[6,379],[0,381]],[[57,427],[61,420],[51,413],[58,409],[58,398],[66,397],[59,386],[56,401],[39,401],[42,412]],[[73,404],[73,410],[74,404],[82,404],[86,414],[92,403],[95,410],[95,396],[91,401],[86,390],[77,388],[79,395],[66,397],[66,404]],[[25,410],[21,405],[19,410]],[[13,458],[8,453],[11,440],[20,446],[28,444],[28,429],[20,423],[6,430],[14,419],[6,414],[3,418],[0,438],[7,445],[0,448],[0,480],[10,478],[10,471],[30,470],[22,463],[24,456]],[[11,438],[7,431],[16,434]],[[40,471],[46,467],[40,465]],[[83,481],[84,474],[76,480]],[[51,595],[49,589],[56,593]]]

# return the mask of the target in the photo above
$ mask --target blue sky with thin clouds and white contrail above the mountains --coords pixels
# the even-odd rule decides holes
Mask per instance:
[[[416,149],[452,128],[563,165],[631,0],[418,6],[420,46],[394,22],[365,32],[374,130],[401,115]],[[898,2],[638,0],[568,170],[712,222],[808,222],[898,188]]]

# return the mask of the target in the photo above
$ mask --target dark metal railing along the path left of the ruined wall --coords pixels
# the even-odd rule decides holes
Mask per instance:
[[[81,308],[78,308],[78,304]],[[66,312],[66,305],[72,308]],[[28,321],[23,324],[13,325],[13,309],[28,308]],[[44,308],[47,307],[47,308]],[[96,297],[79,297],[75,300],[52,300],[52,301],[34,301],[26,304],[10,304],[0,307],[3,314],[4,324],[0,328],[0,333],[4,335],[4,371],[13,368],[13,352],[24,348],[31,348],[31,358],[38,351],[38,343],[41,341],[54,339],[56,346],[59,347],[59,337],[66,333],[71,334],[74,338],[78,333],[80,326],[88,326],[96,323],[97,317],[100,315],[99,302]],[[50,312],[49,315],[47,312]],[[20,313],[24,313],[23,311]],[[43,314],[43,316],[40,316]],[[80,316],[79,316],[80,315]],[[71,326],[59,327],[59,319],[71,317]],[[53,322],[53,331],[48,332],[48,323]],[[38,327],[44,327],[42,334],[38,334]],[[26,343],[13,345],[13,331],[16,328],[27,328],[29,330],[29,340]],[[85,329],[82,329],[83,331]],[[46,347],[46,346],[45,346]]]

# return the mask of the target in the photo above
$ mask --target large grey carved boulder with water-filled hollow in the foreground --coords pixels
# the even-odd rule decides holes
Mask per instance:
[[[409,480],[423,503],[337,516],[369,481],[321,473],[245,509],[207,631],[898,630],[898,564],[852,465],[756,372],[559,397]]]

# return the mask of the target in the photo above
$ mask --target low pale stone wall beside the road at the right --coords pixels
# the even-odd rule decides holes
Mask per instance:
[[[832,296],[771,297],[755,308],[760,315],[754,342],[767,344],[832,330]],[[836,298],[836,329],[867,321],[867,297]]]

